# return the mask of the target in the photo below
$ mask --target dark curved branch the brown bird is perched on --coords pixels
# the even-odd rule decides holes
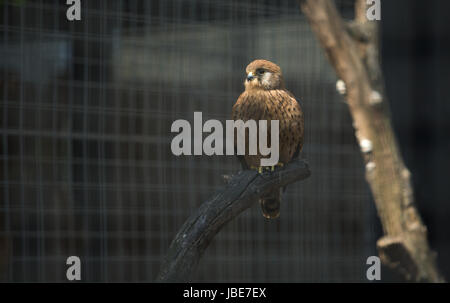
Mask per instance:
[[[239,171],[224,189],[203,203],[187,219],[172,241],[156,281],[188,281],[203,252],[227,222],[274,188],[306,179],[310,174],[307,162],[300,159],[283,169],[263,174],[253,170]]]

